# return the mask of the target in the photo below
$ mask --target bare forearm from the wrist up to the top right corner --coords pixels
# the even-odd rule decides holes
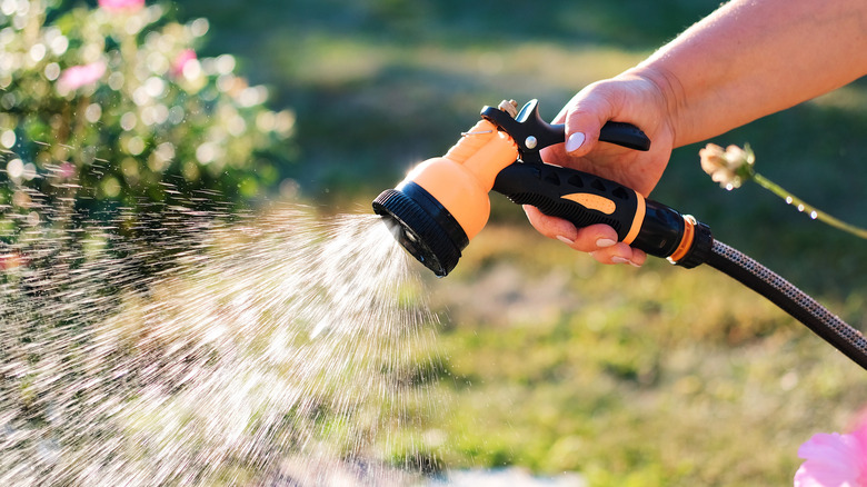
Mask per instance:
[[[675,147],[867,73],[864,0],[735,0],[627,72],[665,93]]]

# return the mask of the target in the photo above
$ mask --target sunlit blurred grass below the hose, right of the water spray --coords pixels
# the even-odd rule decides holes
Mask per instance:
[[[722,275],[601,268],[554,242],[492,261],[486,246],[501,255],[521,238],[490,230],[461,282],[435,284],[455,322],[434,420],[452,441],[447,465],[577,470],[599,486],[780,485],[800,443],[864,404],[857,366]],[[504,266],[526,278],[487,294]],[[537,287],[550,306],[527,310]]]

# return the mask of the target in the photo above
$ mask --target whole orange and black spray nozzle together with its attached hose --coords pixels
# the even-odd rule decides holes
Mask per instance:
[[[373,200],[373,211],[398,242],[438,277],[457,266],[461,251],[487,223],[488,192],[494,190],[578,228],[608,225],[619,241],[677,266],[707,264],[765,296],[867,369],[867,339],[860,331],[756,260],[716,240],[707,225],[615,181],[545,163],[541,149],[564,142],[565,126],[542,120],[537,100],[520,111],[516,108],[509,102],[485,107],[481,120],[461,133],[445,156],[419,163],[395,189]],[[606,123],[599,140],[636,150],[650,148],[640,129],[622,122]]]

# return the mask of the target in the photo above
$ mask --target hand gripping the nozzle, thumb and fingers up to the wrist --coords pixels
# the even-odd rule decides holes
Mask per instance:
[[[564,107],[555,119],[566,123],[566,143],[542,150],[545,162],[570,167],[628,186],[642,196],[654,189],[671,156],[675,130],[666,91],[648,77],[626,72],[588,86]],[[599,143],[599,130],[609,120],[629,122],[650,138],[647,152],[612,143]],[[607,225],[577,229],[572,223],[524,207],[540,233],[589,252],[602,264],[641,266],[647,255],[617,241]]]

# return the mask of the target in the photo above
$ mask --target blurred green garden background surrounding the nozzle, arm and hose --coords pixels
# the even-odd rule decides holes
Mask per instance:
[[[291,117],[279,156],[266,158],[270,176],[239,169],[240,181],[260,171],[243,199],[339,213],[369,211],[482,106],[538,98],[552,118],[719,2],[161,4],[182,23],[207,18],[197,56],[231,54],[235,72],[267,87],[263,107]],[[865,227],[865,100],[858,81],[711,141],[748,142],[759,172]],[[699,147],[674,153],[652,198],[864,329],[865,242],[756,185],[720,189],[701,171]],[[428,282],[446,358],[436,370],[445,399],[428,419],[436,434],[426,435],[437,468],[578,471],[600,486],[785,485],[801,443],[846,429],[867,405],[863,370],[726,276],[660,260],[600,266],[492,198],[492,221],[456,271]]]

